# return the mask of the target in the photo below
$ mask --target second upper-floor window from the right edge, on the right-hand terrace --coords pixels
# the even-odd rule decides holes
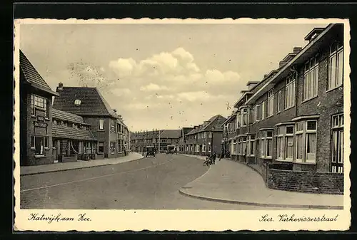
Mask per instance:
[[[305,63],[303,73],[303,100],[308,100],[317,96],[318,89],[318,61],[311,58]]]

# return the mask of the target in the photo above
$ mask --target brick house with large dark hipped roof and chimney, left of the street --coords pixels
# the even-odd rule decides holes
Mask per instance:
[[[54,108],[79,115],[91,125],[91,132],[98,140],[98,159],[124,155],[129,130],[97,88],[64,87],[59,83],[56,92],[59,96],[54,98]]]

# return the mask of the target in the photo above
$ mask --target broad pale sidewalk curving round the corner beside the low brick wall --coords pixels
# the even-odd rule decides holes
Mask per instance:
[[[190,157],[197,157],[187,155]],[[208,172],[186,184],[181,194],[198,199],[262,207],[343,209],[343,195],[288,192],[266,187],[254,169],[231,160],[216,160]]]

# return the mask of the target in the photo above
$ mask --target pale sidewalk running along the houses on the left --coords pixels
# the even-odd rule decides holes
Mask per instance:
[[[31,174],[40,174],[45,172],[59,172],[59,171],[67,171],[72,169],[80,169],[80,168],[88,168],[88,167],[98,167],[104,165],[116,165],[122,162],[130,162],[134,160],[139,160],[144,156],[131,152],[129,155],[125,157],[117,157],[117,158],[106,158],[104,160],[91,160],[87,161],[77,161],[77,162],[66,162],[66,163],[54,163],[51,165],[38,165],[38,166],[21,166],[20,167],[20,175],[31,175]]]

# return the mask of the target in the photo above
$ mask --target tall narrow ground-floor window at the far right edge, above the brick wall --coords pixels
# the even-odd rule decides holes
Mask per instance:
[[[331,172],[343,172],[343,113],[332,116]]]

